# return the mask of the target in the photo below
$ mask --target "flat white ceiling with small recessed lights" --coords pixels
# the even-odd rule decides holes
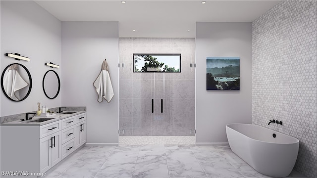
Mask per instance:
[[[195,38],[196,22],[252,22],[280,2],[202,1],[35,0],[60,21],[118,21],[119,37],[152,38]]]

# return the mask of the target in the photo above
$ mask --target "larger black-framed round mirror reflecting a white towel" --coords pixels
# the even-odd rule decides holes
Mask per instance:
[[[28,97],[32,88],[29,70],[22,64],[8,65],[1,75],[1,88],[4,95],[12,101],[22,101]]]

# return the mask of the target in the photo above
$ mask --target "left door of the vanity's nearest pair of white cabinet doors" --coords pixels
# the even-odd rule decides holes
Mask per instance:
[[[40,159],[40,169],[41,173],[46,172],[49,170],[52,166],[51,164],[51,144],[52,144],[52,139],[51,135],[46,136],[44,138],[40,139],[40,152],[41,152],[41,159]]]

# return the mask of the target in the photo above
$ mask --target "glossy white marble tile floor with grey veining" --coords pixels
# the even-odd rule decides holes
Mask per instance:
[[[45,178],[269,178],[229,146],[85,146],[49,170]],[[304,178],[293,171],[288,178]]]

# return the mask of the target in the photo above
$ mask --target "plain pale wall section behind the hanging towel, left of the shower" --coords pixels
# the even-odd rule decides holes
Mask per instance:
[[[118,143],[118,22],[62,22],[63,106],[87,106],[87,142]],[[114,90],[110,103],[97,101],[93,82],[107,59]]]

